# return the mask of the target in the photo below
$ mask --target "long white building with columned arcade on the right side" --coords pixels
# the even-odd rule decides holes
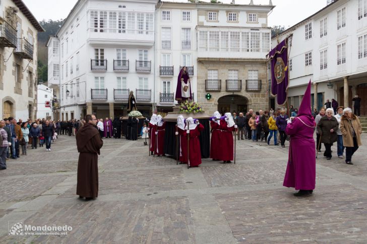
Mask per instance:
[[[352,107],[358,94],[361,114],[367,115],[367,0],[333,1],[273,37],[272,47],[291,33],[289,104],[299,106],[311,79],[314,108],[323,107],[327,99]]]

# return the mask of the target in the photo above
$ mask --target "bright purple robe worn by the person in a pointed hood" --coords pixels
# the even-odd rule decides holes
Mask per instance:
[[[316,152],[312,128],[315,127],[315,120],[312,120],[309,116],[299,116],[285,129],[285,133],[290,135],[288,164],[283,182],[285,187],[294,187],[295,190],[315,189]]]

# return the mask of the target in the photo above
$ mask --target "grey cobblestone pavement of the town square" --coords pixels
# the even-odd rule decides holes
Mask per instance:
[[[367,134],[362,135],[367,144]],[[52,151],[29,149],[0,171],[2,243],[367,242],[367,146],[354,165],[317,159],[317,186],[304,198],[282,186],[285,148],[237,141],[236,164],[203,159],[199,168],[148,156],[143,141],[104,139],[99,196],[78,198],[75,137]],[[8,221],[72,226],[68,235],[8,235]]]

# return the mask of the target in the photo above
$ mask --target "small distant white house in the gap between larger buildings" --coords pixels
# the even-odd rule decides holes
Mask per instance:
[[[52,116],[53,90],[45,85],[37,86],[37,117],[38,119],[53,120]]]

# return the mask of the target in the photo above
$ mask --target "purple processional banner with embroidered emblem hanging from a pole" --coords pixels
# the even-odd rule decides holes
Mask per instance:
[[[277,96],[277,104],[287,101],[288,90],[288,55],[287,40],[284,39],[269,52],[271,65],[271,94]]]

